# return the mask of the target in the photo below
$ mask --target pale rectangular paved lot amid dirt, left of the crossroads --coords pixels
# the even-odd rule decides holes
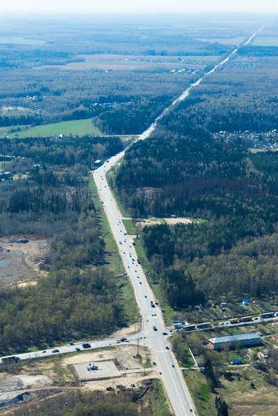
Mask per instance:
[[[88,362],[74,365],[80,380],[110,379],[121,376],[121,372],[113,361],[98,361],[94,362],[94,365],[98,366],[98,370],[88,370]]]

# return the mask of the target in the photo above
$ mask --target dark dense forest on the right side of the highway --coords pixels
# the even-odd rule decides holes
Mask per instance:
[[[153,281],[174,308],[223,294],[263,297],[277,291],[278,155],[250,153],[240,132],[277,128],[271,65],[268,96],[259,70],[251,86],[253,67],[239,83],[231,82],[231,67],[205,79],[150,138],[127,150],[112,183],[133,218],[196,218],[141,232]],[[237,139],[218,137],[220,130]]]

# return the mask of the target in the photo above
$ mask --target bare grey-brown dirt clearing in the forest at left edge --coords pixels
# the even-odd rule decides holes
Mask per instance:
[[[27,239],[28,243],[17,243]],[[20,281],[20,285],[35,284],[39,263],[49,251],[49,239],[33,235],[12,235],[0,239],[0,286]]]

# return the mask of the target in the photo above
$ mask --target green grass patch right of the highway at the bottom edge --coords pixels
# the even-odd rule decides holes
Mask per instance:
[[[216,395],[211,393],[205,375],[198,372],[198,370],[186,370],[184,371],[184,379],[191,392],[198,414],[203,416],[217,415],[214,404]]]

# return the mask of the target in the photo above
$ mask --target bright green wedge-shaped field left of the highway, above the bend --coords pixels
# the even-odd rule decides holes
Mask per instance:
[[[12,139],[15,137],[58,136],[61,134],[65,136],[102,135],[101,130],[98,130],[98,128],[92,125],[91,119],[62,121],[62,123],[39,125],[35,128],[14,133],[8,133],[8,128],[0,129],[0,137],[8,135],[8,137]]]

